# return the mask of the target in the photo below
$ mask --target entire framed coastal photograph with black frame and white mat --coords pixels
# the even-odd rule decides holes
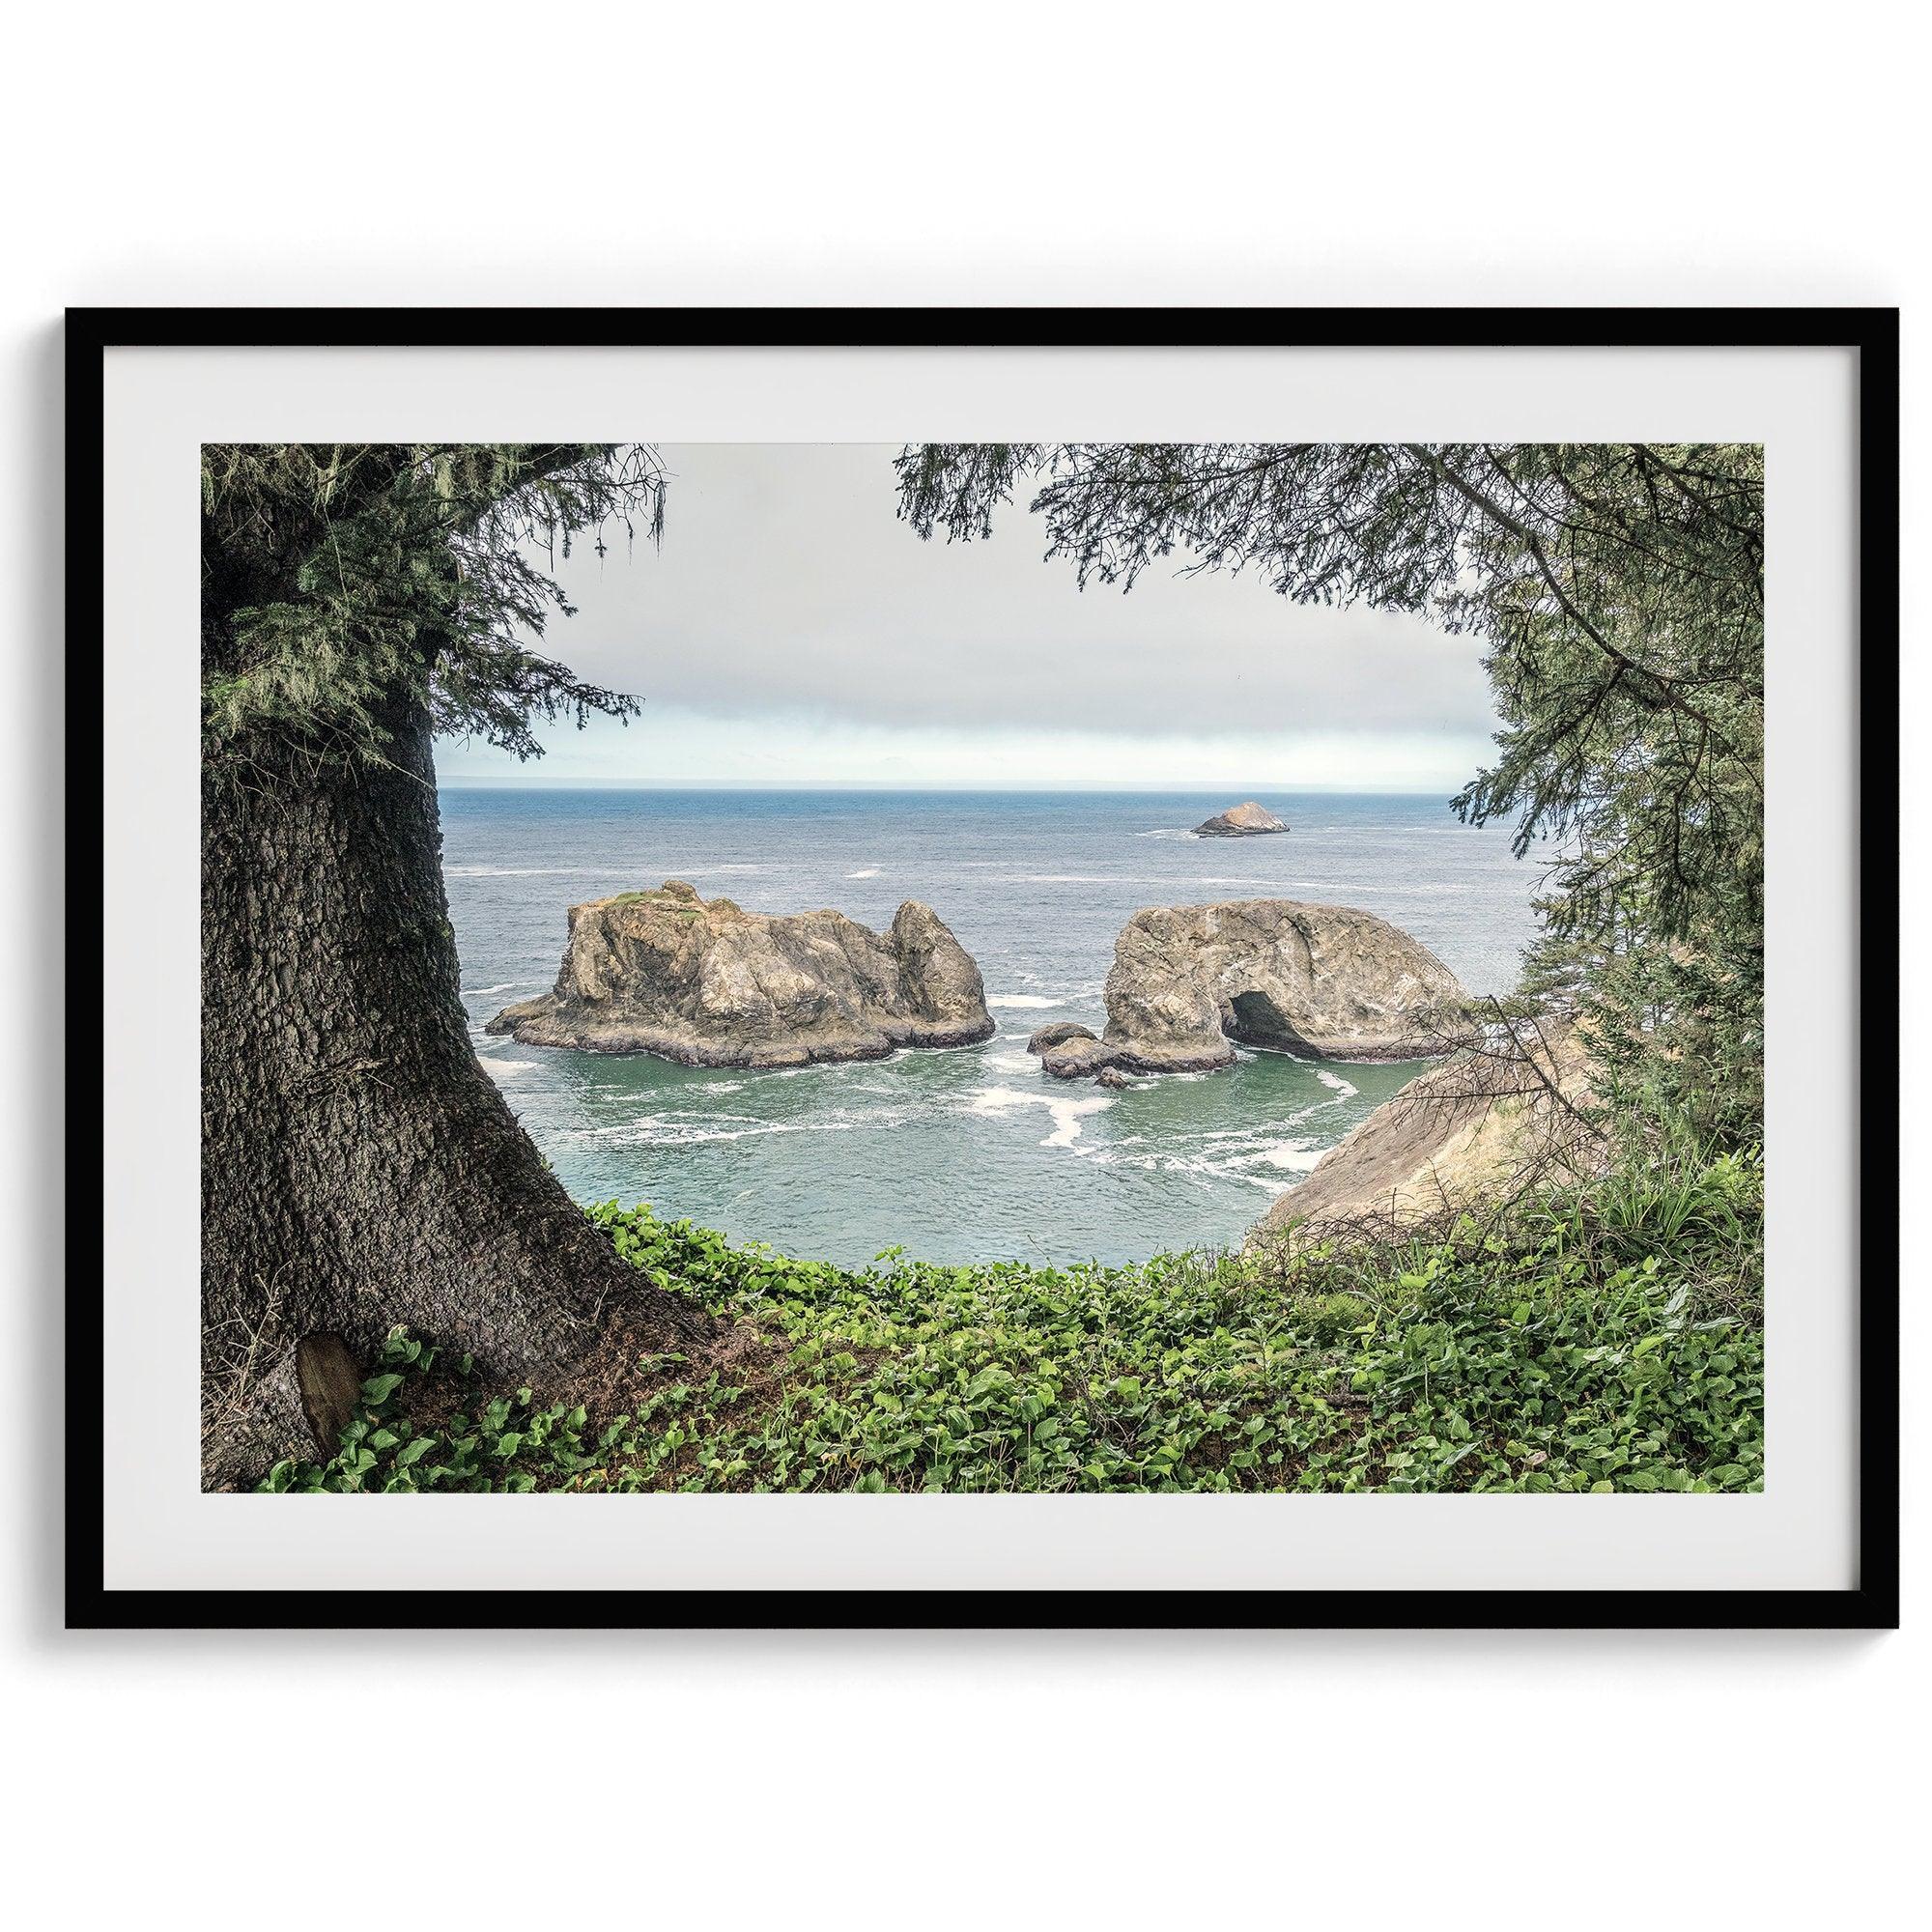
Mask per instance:
[[[1893,311],[85,309],[68,437],[71,1625],[1897,1621]]]

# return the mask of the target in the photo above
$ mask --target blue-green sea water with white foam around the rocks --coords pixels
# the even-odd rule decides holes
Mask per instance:
[[[1414,933],[1503,991],[1538,866],[1439,800],[1267,794],[1293,831],[1194,838],[1225,794],[442,792],[444,877],[477,1055],[578,1200],[866,1262],[1122,1262],[1225,1246],[1420,1068],[1244,1053],[1124,1094],[1047,1080],[1043,1020],[1101,1030],[1113,937],[1140,906],[1310,898]],[[980,962],[997,1037],[779,1072],[526,1047],[483,1022],[549,987],[564,910],[690,879],[753,912],[881,927],[927,900]]]

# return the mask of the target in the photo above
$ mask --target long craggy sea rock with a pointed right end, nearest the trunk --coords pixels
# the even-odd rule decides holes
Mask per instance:
[[[570,908],[556,987],[489,1032],[686,1066],[873,1061],[989,1039],[980,968],[931,906],[885,933],[842,912],[744,912],[682,879]]]

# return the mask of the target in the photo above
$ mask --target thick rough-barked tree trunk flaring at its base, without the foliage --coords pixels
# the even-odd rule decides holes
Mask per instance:
[[[427,711],[384,723],[388,767],[265,742],[203,781],[205,1482],[317,1451],[305,1337],[367,1372],[406,1323],[554,1383],[611,1314],[667,1349],[707,1329],[616,1260],[477,1065]]]

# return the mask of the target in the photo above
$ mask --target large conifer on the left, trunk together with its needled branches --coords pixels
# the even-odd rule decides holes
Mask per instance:
[[[396,1323],[545,1383],[678,1347],[469,1047],[435,732],[520,755],[632,699],[533,649],[545,562],[655,537],[605,444],[209,446],[201,516],[203,1464],[313,1453]]]

